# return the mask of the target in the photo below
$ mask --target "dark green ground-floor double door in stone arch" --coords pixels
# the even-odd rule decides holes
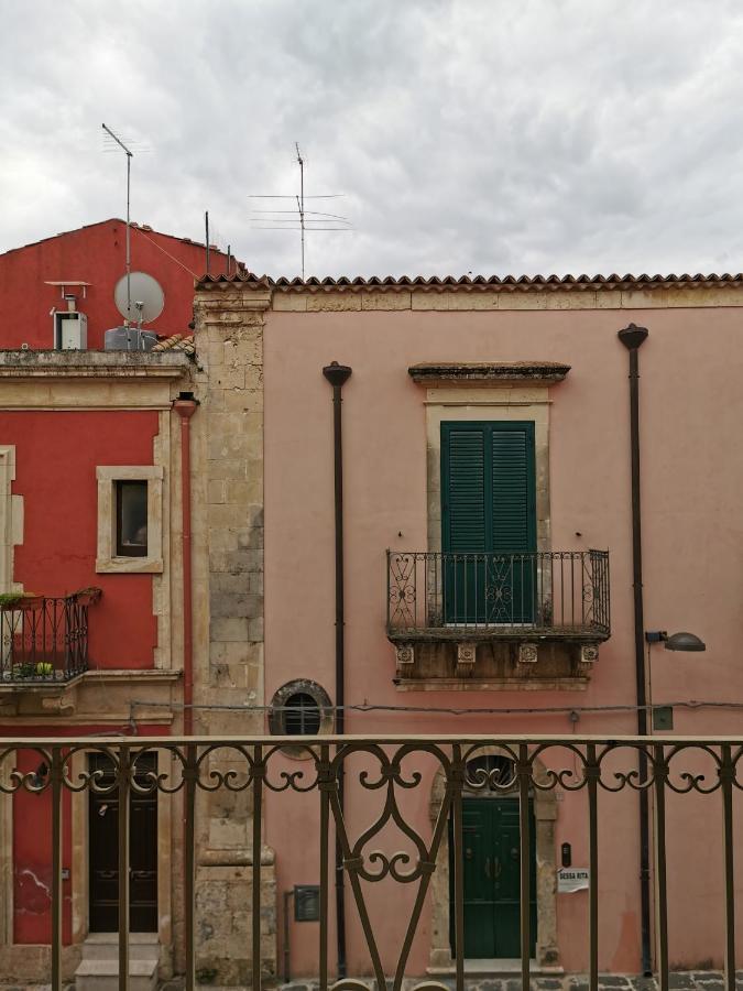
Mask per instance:
[[[536,946],[536,843],[529,801],[531,954]],[[521,956],[518,802],[467,798],[462,805],[465,883],[465,957],[476,960]],[[455,945],[454,843],[450,850],[450,936]]]

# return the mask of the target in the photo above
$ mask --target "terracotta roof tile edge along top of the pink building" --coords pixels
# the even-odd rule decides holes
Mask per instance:
[[[496,292],[555,292],[559,290],[578,290],[596,292],[597,290],[632,290],[632,288],[710,288],[719,286],[743,285],[743,273],[731,275],[724,273],[718,275],[372,275],[368,279],[356,276],[353,279],[342,275],[338,279],[326,276],[318,279],[315,275],[302,280],[299,277],[287,279],[282,275],[273,279],[270,275],[255,275],[253,272],[239,272],[234,275],[205,275],[199,281],[199,286],[208,286],[215,283],[247,283],[256,287],[274,288],[281,292],[309,291],[330,292],[341,290],[345,292],[360,292],[369,290],[390,290],[400,292],[408,288],[423,292],[445,292],[450,288],[465,288],[469,292],[494,290]]]

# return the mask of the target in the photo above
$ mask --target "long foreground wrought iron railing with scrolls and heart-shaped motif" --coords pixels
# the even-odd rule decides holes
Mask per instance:
[[[286,761],[283,749],[297,749],[306,760],[297,765]],[[161,754],[159,763],[153,755]],[[79,770],[80,755],[91,758]],[[110,771],[103,775],[100,755]],[[252,871],[244,883],[244,904],[249,907],[252,987],[260,989],[262,972],[262,936],[265,911],[272,906],[262,902],[261,872],[265,861],[263,819],[266,798],[276,803],[309,802],[307,815],[317,815],[319,828],[319,892],[317,966],[319,989],[331,984],[329,954],[330,903],[335,887],[331,849],[335,839],[342,854],[342,875],[352,899],[347,905],[354,913],[361,930],[367,961],[364,972],[371,972],[376,987],[400,991],[406,976],[413,941],[416,937],[424,905],[431,895],[436,874],[451,864],[451,950],[452,978],[457,991],[465,988],[465,952],[468,916],[465,904],[467,858],[463,857],[468,796],[494,793],[510,794],[517,809],[518,839],[514,849],[517,872],[518,941],[521,946],[521,981],[529,988],[533,921],[529,905],[534,891],[534,861],[529,857],[535,825],[531,815],[533,802],[540,795],[579,801],[587,826],[586,856],[588,867],[587,963],[589,991],[599,988],[599,922],[608,911],[601,901],[602,870],[605,856],[619,857],[624,863],[633,841],[630,836],[616,842],[615,820],[600,806],[612,794],[630,795],[645,792],[651,797],[655,859],[653,882],[656,905],[655,970],[660,991],[669,988],[668,940],[668,879],[667,836],[676,825],[688,825],[689,802],[703,802],[707,832],[719,836],[719,862],[722,881],[719,899],[723,906],[724,926],[712,928],[713,938],[724,950],[725,991],[735,991],[735,892],[733,873],[734,804],[736,792],[743,791],[743,740],[740,738],[649,738],[619,737],[320,737],[320,738],[109,738],[109,739],[0,739],[0,803],[13,802],[22,793],[43,795],[51,801],[43,804],[51,816],[51,907],[52,991],[62,988],[63,933],[63,805],[66,794],[96,793],[111,795],[116,791],[118,842],[118,876],[129,876],[130,868],[130,803],[132,794],[160,793],[174,796],[183,815],[184,834],[184,960],[186,989],[196,982],[196,821],[199,796],[226,792],[232,796],[248,793],[252,809],[248,849]],[[644,758],[644,761],[641,760]],[[77,763],[76,763],[77,762]],[[156,767],[157,770],[152,770]],[[640,771],[638,767],[645,767]],[[77,767],[77,770],[75,770]],[[29,770],[35,769],[35,770]],[[346,781],[345,789],[341,781]],[[411,793],[426,789],[430,797],[438,781],[439,801],[431,802],[430,821],[412,816]],[[346,798],[343,799],[343,792]],[[578,794],[580,793],[580,794]],[[376,797],[376,808],[359,804],[364,797]],[[690,797],[691,796],[691,797]],[[696,799],[693,796],[697,796]],[[714,796],[713,798],[710,796]],[[413,796],[415,798],[415,795]],[[346,805],[345,805],[346,803]],[[356,804],[356,805],[352,805]],[[407,804],[406,804],[407,803]],[[40,806],[41,808],[42,806]],[[636,808],[636,803],[633,803]],[[312,813],[310,813],[312,809]],[[39,817],[37,817],[39,818]],[[722,830],[719,832],[719,824]],[[43,828],[44,827],[44,828]],[[39,835],[47,836],[46,824],[36,823]],[[307,836],[310,830],[307,830]],[[600,838],[604,859],[599,856]],[[674,834],[674,840],[678,836]],[[178,840],[181,842],[181,840]],[[451,857],[442,856],[447,845]],[[400,848],[403,848],[402,850]],[[544,884],[544,870],[540,867]],[[380,883],[409,885],[414,891],[411,911],[398,912],[400,941],[392,973],[385,972],[383,948],[372,924],[370,891]],[[547,889],[554,878],[547,878]],[[687,880],[682,879],[685,911],[695,918],[698,907],[691,901]],[[611,885],[610,885],[611,886]],[[709,881],[704,887],[704,910],[710,906]],[[390,903],[394,895],[389,896]],[[127,884],[118,885],[119,926],[119,988],[125,991],[129,982],[129,899]],[[275,910],[275,906],[273,906]],[[624,896],[618,912],[626,908]],[[447,910],[448,911],[448,910]],[[576,925],[576,916],[572,916]],[[471,916],[470,916],[471,921]],[[719,938],[718,938],[719,937]],[[459,948],[459,949],[458,949]],[[236,954],[243,951],[242,940]],[[712,952],[712,949],[710,950]],[[389,955],[387,955],[389,956]],[[389,968],[387,968],[389,971]],[[272,976],[275,979],[275,976]],[[359,980],[345,978],[335,984],[336,991],[365,989]],[[406,987],[409,987],[406,985]],[[415,991],[448,991],[447,985],[426,979]]]

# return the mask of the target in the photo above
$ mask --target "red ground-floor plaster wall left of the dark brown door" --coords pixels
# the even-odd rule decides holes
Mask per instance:
[[[110,726],[13,727],[15,738],[23,737],[86,737],[112,733]],[[0,726],[0,734],[3,731]],[[170,734],[167,726],[140,727],[142,736]],[[35,771],[43,754],[34,750],[19,753],[18,767]],[[62,864],[70,871],[63,881],[63,941],[72,943],[72,802],[68,792],[63,797]],[[13,940],[26,944],[48,944],[52,939],[52,793],[40,795],[19,792],[13,798]]]

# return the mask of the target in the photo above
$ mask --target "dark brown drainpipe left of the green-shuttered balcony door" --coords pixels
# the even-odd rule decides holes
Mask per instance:
[[[331,361],[323,369],[323,374],[332,385],[332,450],[336,481],[336,733],[340,737],[346,729],[343,704],[343,448],[341,442],[341,390],[348,381],[351,369]],[[338,802],[343,812],[343,769],[338,769]],[[338,946],[338,980],[346,977],[346,891],[343,887],[343,851],[340,848],[336,828],[336,934]]]

